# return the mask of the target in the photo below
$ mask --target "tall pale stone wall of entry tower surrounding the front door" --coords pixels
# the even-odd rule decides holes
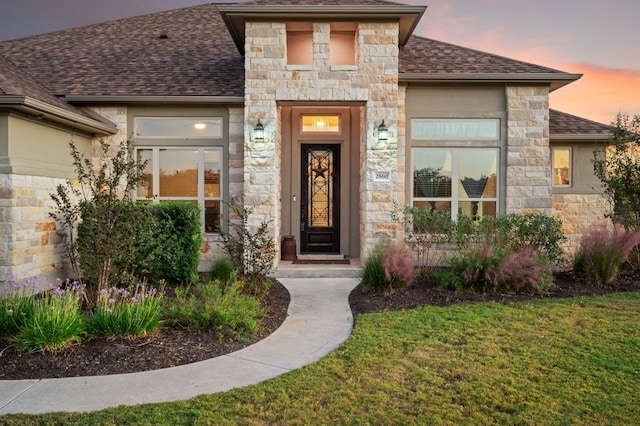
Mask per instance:
[[[271,220],[272,235],[279,237],[282,140],[277,103],[365,102],[360,141],[362,250],[395,237],[397,225],[389,213],[392,201],[403,197],[404,180],[397,157],[398,24],[358,24],[356,66],[329,65],[329,23],[313,24],[311,66],[287,65],[283,22],[247,22],[245,36],[244,202],[255,208],[249,224]],[[265,126],[264,141],[251,137],[258,119]],[[392,132],[388,141],[379,143],[375,129],[383,119]],[[390,171],[391,181],[374,182],[373,173],[379,170]]]

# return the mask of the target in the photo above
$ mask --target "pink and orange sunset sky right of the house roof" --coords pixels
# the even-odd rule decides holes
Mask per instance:
[[[640,114],[640,1],[407,0],[428,4],[417,33],[582,78],[551,107],[609,124]]]

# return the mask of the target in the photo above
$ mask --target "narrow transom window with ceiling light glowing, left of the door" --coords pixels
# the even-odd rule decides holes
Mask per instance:
[[[136,117],[135,136],[148,139],[219,139],[222,118]]]

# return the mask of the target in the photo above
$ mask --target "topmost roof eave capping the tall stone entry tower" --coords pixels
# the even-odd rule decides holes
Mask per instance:
[[[226,24],[238,51],[244,55],[246,21],[276,19],[287,21],[398,21],[398,44],[404,46],[427,10],[427,6],[407,5],[245,5],[219,4],[216,6]]]

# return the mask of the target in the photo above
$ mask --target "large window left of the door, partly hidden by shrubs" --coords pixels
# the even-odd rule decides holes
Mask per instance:
[[[145,179],[138,186],[138,200],[192,201],[202,206],[205,232],[220,230],[222,202],[222,148],[145,147],[136,150],[139,162],[147,161]]]

